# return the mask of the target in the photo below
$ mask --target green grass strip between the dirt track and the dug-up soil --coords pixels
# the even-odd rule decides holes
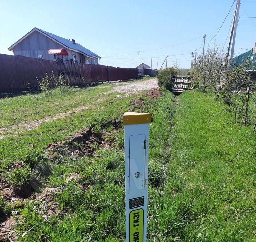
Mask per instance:
[[[43,151],[49,144],[62,141],[85,127],[100,127],[108,119],[120,117],[127,110],[132,97],[119,99],[115,93],[110,93],[105,98],[95,102],[92,108],[69,117],[42,123],[38,129],[22,132],[18,136],[0,139],[0,177],[15,161],[30,165],[36,165],[38,161],[45,162]]]

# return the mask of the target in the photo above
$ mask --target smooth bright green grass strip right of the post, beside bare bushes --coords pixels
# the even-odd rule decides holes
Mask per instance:
[[[183,241],[255,241],[256,136],[251,127],[235,125],[227,107],[209,95],[186,92],[178,100],[170,162],[174,173],[166,186],[176,212],[185,205],[183,219],[172,218],[183,227],[177,236]]]

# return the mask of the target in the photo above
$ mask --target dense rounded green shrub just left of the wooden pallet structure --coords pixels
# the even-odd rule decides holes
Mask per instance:
[[[167,90],[172,89],[172,82],[174,77],[178,75],[178,70],[174,67],[162,69],[158,72],[158,85],[166,88]]]

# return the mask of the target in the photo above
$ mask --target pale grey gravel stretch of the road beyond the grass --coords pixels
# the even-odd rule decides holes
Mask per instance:
[[[132,83],[124,82],[122,85],[114,87],[111,92],[125,92],[127,95],[132,95],[133,93],[149,90],[154,87],[158,87],[157,78]]]

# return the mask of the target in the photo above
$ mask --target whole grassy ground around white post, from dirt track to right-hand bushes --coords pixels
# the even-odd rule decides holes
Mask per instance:
[[[92,95],[87,98],[93,92],[86,91]],[[251,127],[233,124],[224,104],[195,91],[176,98],[165,91],[153,100],[138,95],[120,99],[110,93],[94,104],[0,140],[0,174],[12,185],[21,173],[26,182],[45,167],[50,171],[48,176],[41,173],[34,198],[11,206],[0,199],[0,214],[2,206],[9,216],[12,211],[17,217],[18,241],[124,241],[120,120],[125,111],[153,114],[148,241],[255,241],[256,136]],[[69,137],[88,129],[93,136],[86,146],[91,155],[47,155],[46,147],[56,142],[60,149],[70,144],[84,149],[84,144]],[[45,187],[54,190],[47,199],[42,196]]]

